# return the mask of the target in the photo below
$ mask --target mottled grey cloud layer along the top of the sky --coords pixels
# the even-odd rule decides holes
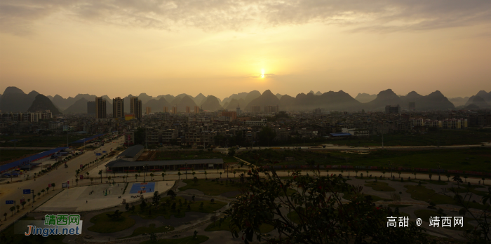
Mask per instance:
[[[36,21],[60,13],[88,22],[166,30],[241,31],[323,22],[354,31],[394,32],[489,23],[491,1],[4,0],[0,30],[30,34]]]

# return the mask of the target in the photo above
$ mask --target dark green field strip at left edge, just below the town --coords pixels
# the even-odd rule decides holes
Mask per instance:
[[[69,135],[68,142],[74,142],[90,135]],[[0,141],[13,140],[13,135],[2,135]],[[67,147],[67,135],[17,135],[15,147]],[[0,143],[0,147],[13,147],[13,142]]]

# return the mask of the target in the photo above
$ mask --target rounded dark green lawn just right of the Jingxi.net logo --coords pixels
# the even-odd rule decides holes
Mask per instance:
[[[89,231],[97,233],[113,233],[123,231],[135,225],[135,219],[128,215],[128,212],[123,212],[120,219],[111,219],[106,214],[113,214],[114,211],[103,212],[100,215],[95,215],[90,219],[93,226],[88,227]]]

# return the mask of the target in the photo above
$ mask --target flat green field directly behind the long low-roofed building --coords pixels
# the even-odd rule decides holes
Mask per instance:
[[[235,163],[237,159],[229,157],[217,151],[159,151],[155,160],[185,160],[185,159],[209,159],[223,158],[224,163]]]

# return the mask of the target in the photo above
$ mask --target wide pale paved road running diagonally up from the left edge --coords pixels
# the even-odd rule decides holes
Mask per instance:
[[[101,153],[102,151],[109,151],[111,148],[114,149],[118,147],[118,145],[121,144],[122,142],[123,142],[123,137],[119,137],[119,139],[113,140],[113,142],[105,143],[104,146],[96,149],[95,151]],[[34,179],[30,179],[22,182],[13,182],[11,184],[1,184],[0,185],[0,217],[2,217],[3,219],[4,212],[7,212],[8,214],[7,217],[8,222],[15,219],[16,216],[20,217],[20,214],[16,214],[14,215],[14,217],[10,217],[11,212],[8,210],[8,208],[11,208],[13,205],[6,205],[6,201],[14,200],[18,205],[20,205],[20,198],[25,198],[26,201],[27,198],[32,198],[32,194],[29,195],[22,194],[22,189],[34,189],[34,192],[37,194],[37,192],[41,191],[42,189],[46,190],[48,184],[53,182],[55,183],[55,189],[60,189],[62,183],[70,181],[70,184],[72,184],[72,181],[74,180],[75,171],[80,168],[81,164],[86,164],[94,160],[95,160],[94,151],[87,151],[85,154],[82,154],[81,156],[78,156],[70,160],[67,163],[68,168],[58,167],[57,170],[52,170],[48,174],[42,175],[41,177],[36,177],[35,181]],[[14,181],[15,179],[16,178],[14,178]],[[37,196],[36,196],[36,200],[37,200]],[[0,226],[0,230],[3,229],[2,227],[3,226]]]

